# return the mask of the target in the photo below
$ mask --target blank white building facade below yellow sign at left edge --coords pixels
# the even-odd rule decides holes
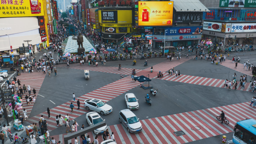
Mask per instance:
[[[36,44],[41,43],[41,36],[36,16],[0,18],[0,21],[4,22],[0,23],[0,51],[10,50],[11,45],[13,53],[17,53],[16,49],[19,49],[22,43],[27,46],[24,40],[31,40],[29,44],[33,45],[35,52],[37,51]]]

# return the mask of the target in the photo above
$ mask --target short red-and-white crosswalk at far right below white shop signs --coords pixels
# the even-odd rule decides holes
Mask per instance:
[[[252,69],[246,70],[246,67],[244,69],[244,64],[237,63],[237,68],[235,68],[235,63],[232,63],[231,60],[226,59],[226,61],[222,62],[221,65],[223,65],[225,67],[228,67],[228,68],[231,68],[232,70],[238,71],[240,73],[247,74],[247,76],[253,76],[252,75]]]

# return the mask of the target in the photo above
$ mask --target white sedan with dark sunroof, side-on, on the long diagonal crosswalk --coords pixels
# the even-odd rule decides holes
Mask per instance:
[[[83,106],[86,110],[92,110],[100,113],[101,115],[109,114],[112,107],[99,99],[86,99]]]

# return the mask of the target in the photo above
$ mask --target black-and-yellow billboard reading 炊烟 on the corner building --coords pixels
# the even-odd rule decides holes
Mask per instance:
[[[99,10],[99,22],[108,24],[132,24],[132,10]]]

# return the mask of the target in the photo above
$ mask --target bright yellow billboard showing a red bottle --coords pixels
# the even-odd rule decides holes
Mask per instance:
[[[139,1],[138,25],[173,25],[173,1]]]

